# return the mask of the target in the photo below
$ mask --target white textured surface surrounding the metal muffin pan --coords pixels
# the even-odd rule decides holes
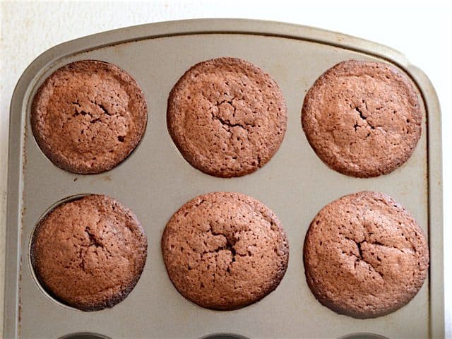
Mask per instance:
[[[444,239],[451,239],[448,226],[452,221],[452,179],[447,174],[452,170],[452,1],[0,0],[0,3],[0,328],[3,322],[8,111],[13,88],[28,64],[55,44],[130,25],[189,18],[278,20],[355,35],[398,49],[427,73],[439,95],[443,117]],[[448,242],[444,245],[446,338],[452,338],[452,250]]]

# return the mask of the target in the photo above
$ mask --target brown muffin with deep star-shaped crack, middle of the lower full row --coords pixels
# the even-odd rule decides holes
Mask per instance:
[[[238,193],[198,196],[179,208],[162,236],[174,286],[208,309],[257,302],[283,279],[289,244],[276,215]]]

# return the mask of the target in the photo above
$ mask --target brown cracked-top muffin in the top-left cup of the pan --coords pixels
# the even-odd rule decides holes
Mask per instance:
[[[61,67],[33,99],[31,124],[42,152],[78,174],[112,169],[138,145],[148,112],[140,86],[102,61]]]

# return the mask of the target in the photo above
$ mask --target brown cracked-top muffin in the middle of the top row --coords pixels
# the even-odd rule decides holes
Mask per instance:
[[[283,141],[287,109],[278,84],[247,61],[191,67],[168,98],[167,126],[184,158],[216,177],[256,171]]]

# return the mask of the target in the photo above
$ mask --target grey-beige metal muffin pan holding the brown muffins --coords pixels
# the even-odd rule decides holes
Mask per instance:
[[[254,174],[210,177],[191,167],[166,126],[167,97],[198,61],[239,57],[270,73],[287,100],[287,133],[273,159]],[[30,102],[60,66],[80,59],[109,61],[143,88],[149,119],[138,148],[121,165],[97,175],[64,172],[37,147]],[[373,179],[346,177],[323,165],[302,131],[304,95],[316,78],[346,59],[380,60],[408,74],[422,97],[422,137],[412,157]],[[444,270],[439,102],[427,76],[399,52],[355,37],[286,23],[186,20],[122,28],[60,44],[40,55],[20,78],[11,103],[4,338],[60,338],[99,333],[108,338],[341,338],[376,333],[387,338],[444,337]],[[321,306],[304,278],[302,244],[314,215],[356,191],[389,194],[407,208],[429,238],[431,265],[420,292],[402,309],[359,320]],[[239,191],[269,206],[290,242],[285,278],[268,297],[236,311],[188,302],[170,282],[160,252],[167,220],[189,199],[210,191]],[[148,261],[135,289],[112,309],[83,312],[58,304],[35,282],[30,237],[55,203],[77,194],[107,194],[130,206],[148,235]],[[65,337],[66,338],[66,337]],[[88,337],[83,337],[88,338]],[[226,337],[225,337],[226,338]],[[230,338],[230,337],[227,337]]]

